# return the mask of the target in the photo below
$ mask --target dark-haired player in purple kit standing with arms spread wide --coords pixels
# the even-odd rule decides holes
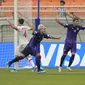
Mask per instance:
[[[76,39],[77,39],[77,34],[80,30],[84,30],[84,26],[79,25],[79,19],[78,18],[73,18],[73,24],[63,24],[61,23],[58,19],[55,19],[57,23],[62,25],[63,27],[67,28],[67,34],[66,34],[66,39],[65,39],[65,45],[63,49],[63,55],[61,57],[60,61],[60,66],[59,66],[59,72],[61,72],[62,64],[64,62],[64,59],[68,53],[68,51],[71,50],[71,58],[69,61],[69,65],[67,67],[68,70],[72,71],[70,66],[72,65],[76,53]]]

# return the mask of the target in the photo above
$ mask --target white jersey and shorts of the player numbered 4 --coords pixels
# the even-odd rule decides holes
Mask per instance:
[[[28,26],[17,26],[17,29],[18,29],[18,43],[17,43],[15,55],[19,55],[20,52],[28,44],[29,37],[30,37],[28,31],[31,28]]]

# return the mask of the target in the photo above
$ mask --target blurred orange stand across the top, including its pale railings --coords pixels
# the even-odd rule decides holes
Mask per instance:
[[[65,0],[65,7],[67,12],[73,11],[73,12],[85,12],[85,1],[84,0]],[[28,5],[29,3],[23,3],[22,0],[18,0],[18,5]],[[0,18],[2,17],[9,17],[13,16],[13,6],[14,2],[13,0],[6,0],[5,2],[2,2],[1,13]],[[60,0],[40,0],[41,5],[41,17],[53,17],[58,15],[58,8],[60,6]],[[10,7],[3,7],[3,6],[10,6]],[[37,16],[37,0],[32,0],[32,15],[35,18]],[[20,8],[19,8],[20,9]],[[2,13],[3,12],[3,13]],[[85,13],[81,13],[83,16]]]

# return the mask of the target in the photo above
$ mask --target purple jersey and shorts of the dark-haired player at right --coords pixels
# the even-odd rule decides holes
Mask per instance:
[[[85,27],[78,25],[76,28],[73,24],[65,25],[67,27],[67,35],[64,45],[64,53],[66,54],[69,50],[76,52],[76,38],[80,30],[84,30]]]

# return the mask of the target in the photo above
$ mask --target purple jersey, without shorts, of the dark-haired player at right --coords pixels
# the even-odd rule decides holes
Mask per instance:
[[[77,34],[80,30],[84,30],[85,27],[78,25],[77,27],[74,27],[73,24],[65,25],[67,27],[67,35],[66,35],[66,41],[68,42],[76,42]]]

